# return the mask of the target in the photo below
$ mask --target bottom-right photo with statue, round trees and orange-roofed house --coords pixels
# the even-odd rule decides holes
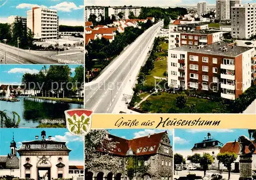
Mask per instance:
[[[255,129],[175,129],[176,179],[255,178]]]

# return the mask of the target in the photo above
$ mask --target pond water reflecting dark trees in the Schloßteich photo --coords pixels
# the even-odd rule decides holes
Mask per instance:
[[[20,116],[19,127],[36,127],[42,119],[64,119],[64,111],[83,108],[82,104],[45,101],[19,97],[19,102],[0,101],[0,110],[15,111]]]

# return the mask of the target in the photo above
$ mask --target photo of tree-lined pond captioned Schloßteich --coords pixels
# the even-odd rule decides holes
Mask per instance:
[[[2,64],[1,127],[63,127],[83,108],[83,65]]]

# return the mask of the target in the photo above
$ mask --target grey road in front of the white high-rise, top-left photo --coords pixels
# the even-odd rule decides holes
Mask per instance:
[[[6,59],[7,64],[63,64],[62,62],[58,62],[58,59],[65,59],[65,56],[62,58],[52,57],[51,54],[44,54],[35,51],[22,50],[16,47],[5,45],[4,43],[0,43],[0,63],[4,64],[5,61],[5,50],[6,50]],[[79,53],[80,56],[83,53]],[[75,56],[75,55],[69,55]],[[64,58],[63,58],[64,57]],[[69,59],[69,58],[67,58]],[[83,63],[83,62],[82,62]]]

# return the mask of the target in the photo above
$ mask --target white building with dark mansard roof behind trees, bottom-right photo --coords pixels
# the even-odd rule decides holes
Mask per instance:
[[[208,132],[207,137],[204,137],[204,140],[198,143],[195,143],[194,147],[191,149],[192,153],[198,153],[203,155],[203,153],[209,153],[214,158],[214,162],[209,166],[210,169],[218,169],[219,162],[217,160],[217,155],[220,152],[223,144],[216,140],[214,136]]]

